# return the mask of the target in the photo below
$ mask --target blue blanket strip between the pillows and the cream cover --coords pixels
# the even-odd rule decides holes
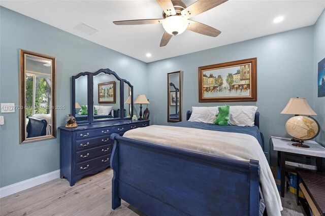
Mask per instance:
[[[261,145],[262,149],[264,150],[264,137],[263,134],[259,132],[257,126],[253,126],[253,127],[232,126],[232,125],[220,126],[220,125],[214,125],[209,123],[189,122],[189,121],[177,122],[171,126],[189,127],[189,128],[197,128],[197,129],[204,129],[204,130],[216,130],[216,131],[233,132],[233,133],[245,133],[254,136],[259,142],[259,145]]]

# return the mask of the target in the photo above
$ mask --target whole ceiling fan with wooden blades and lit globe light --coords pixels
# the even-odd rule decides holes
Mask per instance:
[[[183,33],[186,29],[200,34],[217,37],[221,31],[200,22],[189,20],[189,18],[208,11],[228,0],[198,0],[190,6],[181,0],[156,0],[163,9],[164,19],[138,19],[114,21],[116,25],[141,25],[141,24],[163,24],[165,33],[160,41],[160,47],[164,47],[173,35]]]

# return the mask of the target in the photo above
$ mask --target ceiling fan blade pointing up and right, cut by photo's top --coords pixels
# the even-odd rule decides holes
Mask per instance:
[[[193,16],[196,16],[198,14],[201,14],[205,11],[208,11],[212,8],[217,7],[218,5],[221,5],[222,3],[225,3],[228,0],[199,0],[197,2],[194,2],[187,8],[181,11],[181,14],[186,19],[189,19]]]

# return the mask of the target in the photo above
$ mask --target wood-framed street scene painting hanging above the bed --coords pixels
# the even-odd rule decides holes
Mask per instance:
[[[256,101],[256,61],[199,67],[199,102]]]

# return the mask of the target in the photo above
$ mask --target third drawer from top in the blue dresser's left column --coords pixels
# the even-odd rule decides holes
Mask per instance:
[[[77,163],[80,163],[82,161],[86,161],[86,160],[90,160],[93,158],[101,157],[103,155],[111,154],[111,152],[112,152],[111,144],[101,146],[98,148],[94,148],[94,149],[80,151],[80,152],[76,153],[76,161],[77,161]]]

